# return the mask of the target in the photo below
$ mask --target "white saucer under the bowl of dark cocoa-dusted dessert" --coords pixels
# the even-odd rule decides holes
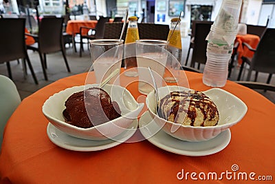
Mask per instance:
[[[69,136],[65,132],[58,130],[52,123],[47,125],[47,136],[50,138],[52,143],[58,145],[59,147],[63,147],[67,150],[79,151],[79,152],[92,152],[98,150],[105,150],[110,147],[114,147],[116,145],[120,145],[121,143],[127,141],[135,131],[137,130],[137,119],[131,123],[129,128],[115,136],[113,139],[107,139],[102,141],[93,141],[87,139],[79,139],[74,136]]]

